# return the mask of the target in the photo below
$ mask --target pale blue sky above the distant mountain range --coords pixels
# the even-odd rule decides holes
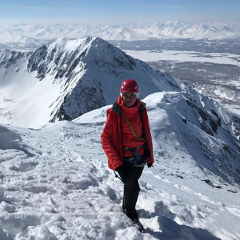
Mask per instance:
[[[240,22],[240,0],[0,0],[4,22]],[[0,22],[0,24],[1,24]]]

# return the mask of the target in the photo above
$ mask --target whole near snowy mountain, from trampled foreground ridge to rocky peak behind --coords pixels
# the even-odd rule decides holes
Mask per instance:
[[[139,83],[154,145],[144,236],[121,213],[100,142],[126,78]],[[0,106],[0,239],[239,239],[240,119],[172,76],[100,38],[61,39],[0,52]]]

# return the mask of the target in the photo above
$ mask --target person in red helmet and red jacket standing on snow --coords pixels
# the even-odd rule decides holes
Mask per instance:
[[[101,135],[108,166],[120,175],[124,183],[123,212],[138,221],[135,209],[144,165],[154,162],[152,137],[145,103],[138,98],[135,80],[126,79],[120,87],[120,96],[107,110],[107,121]]]

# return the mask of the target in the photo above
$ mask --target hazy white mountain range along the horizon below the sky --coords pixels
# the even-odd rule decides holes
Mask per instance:
[[[236,26],[193,24],[175,20],[164,24],[128,24],[87,26],[83,24],[14,24],[0,25],[0,48],[33,49],[59,38],[76,39],[87,36],[105,40],[147,40],[162,38],[232,38],[239,37]]]

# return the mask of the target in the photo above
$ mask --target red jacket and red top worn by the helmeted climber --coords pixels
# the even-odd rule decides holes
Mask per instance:
[[[102,147],[108,157],[109,168],[113,170],[116,169],[123,164],[124,156],[129,157],[126,155],[127,153],[124,154],[123,146],[134,148],[144,143],[144,141],[142,142],[135,139],[129,125],[121,114],[121,108],[124,110],[136,134],[139,137],[145,138],[145,148],[149,150],[147,163],[153,163],[152,137],[145,103],[137,99],[137,105],[135,107],[127,108],[121,96],[119,96],[112,108],[107,110],[107,121],[101,135]],[[141,155],[144,150],[140,148],[138,151]]]

